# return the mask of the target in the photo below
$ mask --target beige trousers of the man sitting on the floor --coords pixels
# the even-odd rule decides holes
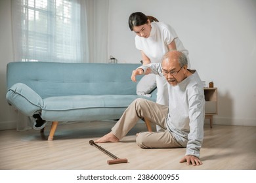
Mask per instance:
[[[148,118],[153,124],[159,125],[164,131],[141,132],[137,136],[137,144],[142,148],[177,148],[181,145],[166,129],[168,107],[146,99],[136,99],[123,112],[112,133],[122,139],[137,124],[140,119]]]

